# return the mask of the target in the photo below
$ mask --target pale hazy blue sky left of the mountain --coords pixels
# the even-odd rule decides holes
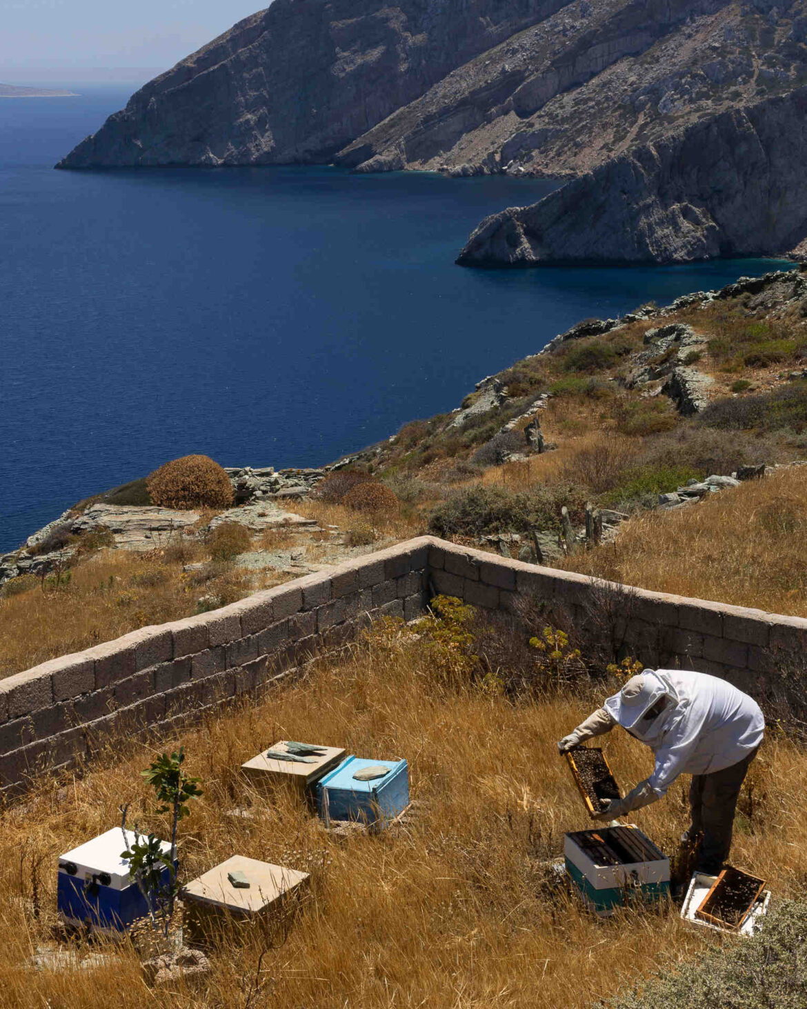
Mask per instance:
[[[0,81],[166,70],[269,0],[0,0]],[[125,76],[125,73],[123,74]]]

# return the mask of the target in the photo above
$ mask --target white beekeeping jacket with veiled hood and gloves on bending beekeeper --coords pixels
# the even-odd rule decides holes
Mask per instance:
[[[656,767],[650,778],[610,804],[608,817],[656,802],[680,774],[731,767],[757,750],[765,732],[757,702],[725,680],[687,670],[646,669],[562,740],[560,748],[571,749],[615,724],[653,750]]]

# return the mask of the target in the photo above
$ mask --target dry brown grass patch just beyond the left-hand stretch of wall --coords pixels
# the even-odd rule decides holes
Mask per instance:
[[[203,596],[235,602],[289,577],[274,571],[247,574],[226,562],[183,571],[185,563],[208,556],[202,545],[148,554],[105,550],[77,564],[67,583],[56,586],[51,578],[41,585],[31,578],[24,592],[11,595],[6,588],[0,595],[0,677],[137,628],[190,616]],[[13,590],[13,583],[9,587]]]

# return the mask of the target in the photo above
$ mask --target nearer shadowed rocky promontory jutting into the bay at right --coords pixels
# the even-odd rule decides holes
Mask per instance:
[[[807,88],[641,147],[483,221],[465,265],[688,262],[781,253],[807,235]]]

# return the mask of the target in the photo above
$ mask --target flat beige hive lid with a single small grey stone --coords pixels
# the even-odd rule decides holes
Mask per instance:
[[[249,887],[233,886],[229,880],[231,874],[236,878],[239,878],[238,874],[243,874]],[[283,894],[305,883],[308,878],[308,873],[299,872],[297,869],[286,869],[268,862],[258,862],[256,859],[234,855],[198,879],[192,880],[183,888],[183,896],[203,904],[254,913],[273,904]]]

